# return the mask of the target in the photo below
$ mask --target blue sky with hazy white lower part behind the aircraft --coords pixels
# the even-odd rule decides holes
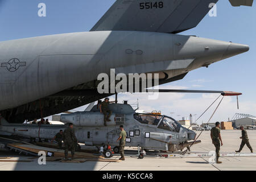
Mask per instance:
[[[114,0],[0,0],[0,41],[32,36],[89,31],[109,9]],[[38,16],[38,4],[46,3],[47,16]],[[254,2],[255,4],[255,2]],[[167,84],[188,89],[232,90],[242,92],[241,110],[236,110],[236,100],[228,98],[215,119],[227,119],[236,112],[256,115],[256,7],[232,7],[228,0],[217,3],[217,17],[205,16],[199,26],[182,32],[204,38],[248,44],[250,51],[188,73],[181,81]],[[141,101],[141,109],[163,110],[168,114],[189,115],[203,112],[216,95],[170,94],[170,108]],[[121,96],[119,100],[136,100],[139,96]],[[163,95],[166,97],[166,95]],[[176,98],[176,100],[174,100]],[[142,98],[143,100],[143,98]],[[185,102],[185,103],[184,103]],[[195,107],[195,102],[201,103]],[[143,106],[144,105],[144,106]],[[146,106],[147,105],[147,106]],[[187,105],[187,107],[177,107]],[[228,109],[227,109],[228,108]],[[174,115],[174,116],[175,116]],[[207,115],[209,117],[210,113]],[[207,117],[205,118],[207,119]]]

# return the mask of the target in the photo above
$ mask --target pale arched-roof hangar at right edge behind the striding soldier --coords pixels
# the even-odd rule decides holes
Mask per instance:
[[[255,121],[256,121],[256,116],[254,115],[236,113],[232,118],[231,122],[232,122],[232,126],[237,128],[239,126],[248,126],[248,125],[255,126],[256,125]]]

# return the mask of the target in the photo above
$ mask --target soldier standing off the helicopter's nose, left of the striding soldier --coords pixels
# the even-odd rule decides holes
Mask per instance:
[[[216,163],[221,164],[218,159],[220,158],[220,146],[223,146],[222,138],[220,134],[220,123],[215,123],[216,127],[213,127],[212,130],[210,130],[210,137],[212,138],[212,144],[214,144],[216,148]]]

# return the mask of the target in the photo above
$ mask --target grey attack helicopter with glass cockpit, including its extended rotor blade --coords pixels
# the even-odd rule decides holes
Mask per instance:
[[[155,92],[155,90],[147,90],[147,92]],[[207,90],[165,89],[157,92],[221,93],[222,96],[241,95],[241,93],[236,92]],[[104,126],[104,115],[100,113],[99,104],[90,105],[89,107],[90,109],[85,111],[61,114],[60,121],[66,123],[66,125],[12,124],[0,117],[0,134],[52,139],[59,130],[65,130],[68,127],[67,123],[73,123],[79,143],[101,148],[108,146],[107,150],[104,151],[106,158],[113,155],[110,146],[118,146],[116,140],[119,137],[120,125],[123,125],[127,131],[126,146],[138,147],[139,154],[143,150],[174,152],[201,142],[196,140],[195,131],[181,126],[174,118],[167,115],[136,113],[127,102],[109,105],[113,114],[110,117],[111,121],[107,122],[107,126]],[[114,147],[113,150],[118,152],[118,147]],[[139,156],[143,157],[143,155]]]

